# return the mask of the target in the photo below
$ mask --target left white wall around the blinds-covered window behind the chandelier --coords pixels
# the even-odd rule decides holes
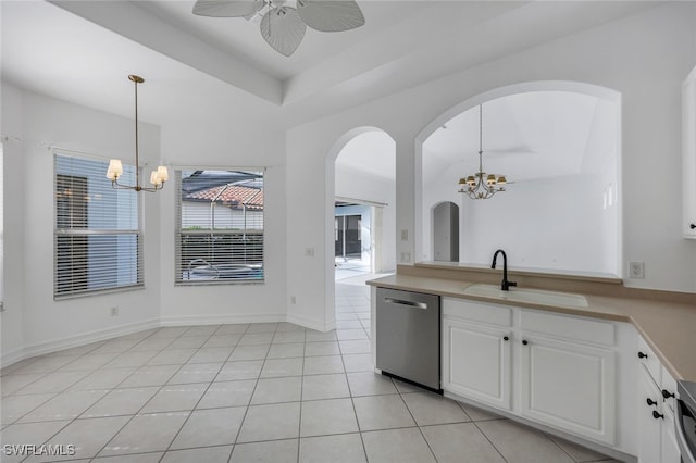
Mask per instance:
[[[3,132],[22,139],[5,152],[5,274],[2,360],[154,326],[159,317],[159,197],[144,197],[145,289],[53,300],[52,147],[133,162],[133,121],[2,83]],[[141,163],[160,157],[160,130],[140,126]],[[13,175],[21,172],[24,175]],[[104,182],[108,182],[104,177]],[[119,315],[110,308],[117,305]],[[20,333],[21,335],[18,335]]]

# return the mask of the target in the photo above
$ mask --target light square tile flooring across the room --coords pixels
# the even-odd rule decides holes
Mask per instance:
[[[369,290],[337,285],[337,329],[167,327],[2,371],[2,462],[608,461],[375,375]],[[8,445],[64,446],[60,458]],[[61,450],[36,447],[35,450]],[[10,450],[10,451],[9,451]]]

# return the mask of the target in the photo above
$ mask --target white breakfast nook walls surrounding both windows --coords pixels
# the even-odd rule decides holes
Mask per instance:
[[[171,167],[265,167],[265,283],[174,287],[175,188],[142,193],[142,290],[53,301],[53,158],[50,146],[133,162],[133,121],[2,83],[5,308],[2,362],[160,324],[284,321],[286,214],[283,134],[277,125],[239,122],[221,101],[210,118],[183,116],[165,129],[140,125],[140,163]],[[231,129],[229,124],[236,129]],[[162,148],[161,148],[162,147]],[[147,170],[146,170],[147,171]],[[23,175],[11,175],[21,172]],[[32,173],[29,176],[28,173]],[[104,178],[105,180],[105,178]],[[47,260],[47,256],[49,258]],[[110,308],[117,305],[119,315]]]

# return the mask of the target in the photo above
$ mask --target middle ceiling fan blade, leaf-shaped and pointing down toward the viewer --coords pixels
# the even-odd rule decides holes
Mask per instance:
[[[290,7],[276,7],[261,20],[261,35],[265,41],[286,57],[297,50],[306,30],[297,10]]]

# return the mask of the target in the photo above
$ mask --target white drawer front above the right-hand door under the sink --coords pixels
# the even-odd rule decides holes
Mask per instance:
[[[522,311],[520,316],[520,327],[523,331],[594,345],[614,346],[616,343],[614,326],[610,322],[531,310]]]

